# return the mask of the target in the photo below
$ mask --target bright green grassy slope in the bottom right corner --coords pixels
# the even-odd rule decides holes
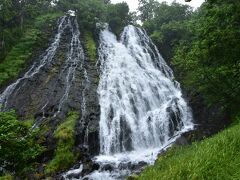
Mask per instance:
[[[240,179],[240,116],[214,137],[186,147],[173,147],[137,179]]]

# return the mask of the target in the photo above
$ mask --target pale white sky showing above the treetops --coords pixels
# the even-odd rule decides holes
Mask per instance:
[[[137,9],[138,7],[138,0],[111,0],[111,2],[114,3],[119,3],[119,2],[127,2],[129,5],[129,8],[131,11],[134,11]],[[166,1],[168,3],[173,2],[174,0],[158,0],[159,2],[163,2]],[[199,7],[205,0],[192,0],[191,2],[185,2],[185,0],[176,0],[176,2],[178,3],[182,3],[182,4],[188,4],[189,6],[194,7],[194,9],[196,9],[197,7]]]

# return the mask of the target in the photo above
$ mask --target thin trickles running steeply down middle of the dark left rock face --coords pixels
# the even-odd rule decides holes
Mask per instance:
[[[68,11],[68,14],[71,10]],[[85,91],[88,88],[88,84],[89,84],[89,80],[88,80],[88,74],[87,71],[85,69],[85,54],[84,54],[84,50],[80,41],[80,30],[79,30],[79,25],[77,22],[77,18],[73,16],[75,16],[73,14],[73,11],[71,11],[72,14],[70,14],[71,17],[67,17],[67,26],[70,29],[70,32],[72,34],[71,37],[71,41],[70,41],[70,47],[69,47],[69,52],[67,55],[67,58],[64,62],[64,67],[61,69],[59,75],[58,75],[58,79],[63,81],[64,84],[64,92],[63,95],[61,97],[61,99],[59,100],[59,104],[58,104],[58,111],[55,112],[55,114],[53,115],[53,117],[56,117],[63,109],[64,105],[67,104],[68,98],[69,98],[69,94],[72,88],[72,85],[75,83],[76,80],[76,73],[77,70],[81,70],[84,80],[82,81],[82,85],[83,85],[83,90],[82,90],[82,96],[81,96],[81,114],[82,114],[82,118],[85,115],[85,111],[86,111],[86,100],[85,100]],[[44,109],[45,107],[47,107],[49,102],[47,102],[43,108],[43,117],[35,123],[35,126],[38,126],[39,123],[41,123],[41,121],[45,118],[44,116]]]

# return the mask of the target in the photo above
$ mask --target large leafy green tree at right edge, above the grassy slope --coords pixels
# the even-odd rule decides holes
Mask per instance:
[[[193,37],[174,56],[186,87],[229,111],[238,111],[240,103],[239,9],[239,2],[206,3],[188,23]]]

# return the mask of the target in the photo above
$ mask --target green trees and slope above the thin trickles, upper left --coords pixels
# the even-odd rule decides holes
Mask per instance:
[[[92,34],[97,22],[109,22],[114,32],[132,22],[126,3],[110,4],[106,0],[10,1],[0,3],[0,86],[15,79],[26,67],[35,47],[41,46],[48,29],[69,9],[75,10],[80,28],[86,32],[86,47],[91,60],[96,59]]]

